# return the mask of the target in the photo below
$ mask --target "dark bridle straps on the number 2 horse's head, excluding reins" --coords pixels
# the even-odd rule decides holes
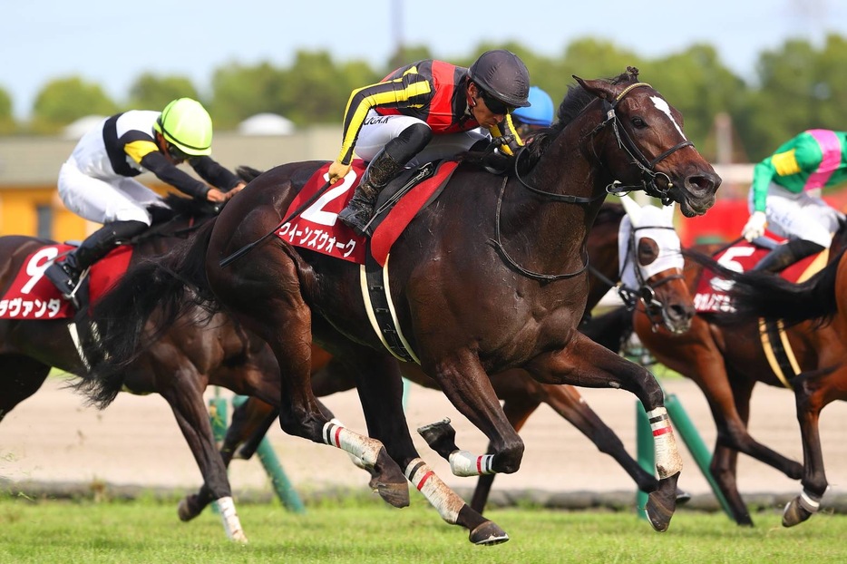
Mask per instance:
[[[618,103],[624,99],[629,92],[632,92],[634,89],[646,86],[647,88],[652,88],[647,83],[634,83],[628,85],[624,88],[616,97],[615,101],[609,103],[607,100],[603,100],[603,108],[606,111],[606,119],[603,122],[600,122],[597,127],[589,132],[587,137],[593,138],[599,131],[604,130],[608,125],[611,126],[612,131],[615,132],[615,139],[618,140],[618,147],[627,151],[627,154],[635,161],[635,164],[641,170],[641,185],[640,186],[624,186],[621,185],[617,180],[612,183],[611,186],[608,187],[607,191],[609,194],[620,194],[623,192],[630,192],[632,190],[644,190],[648,196],[652,196],[654,198],[662,200],[662,205],[667,206],[673,201],[673,199],[668,196],[667,192],[670,191],[674,187],[674,183],[671,182],[670,178],[664,172],[657,172],[656,165],[662,160],[667,159],[670,155],[683,149],[684,147],[694,147],[694,143],[691,141],[681,141],[668,149],[667,151],[662,152],[655,159],[649,160],[644,156],[644,153],[638,149],[638,145],[636,145],[635,141],[632,141],[632,138],[629,136],[627,130],[623,127],[623,123],[620,121],[618,117],[618,113],[615,112],[615,109],[618,107]],[[664,179],[664,188],[659,188],[656,180],[658,178]]]

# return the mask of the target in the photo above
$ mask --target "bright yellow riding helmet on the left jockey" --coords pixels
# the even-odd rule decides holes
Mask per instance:
[[[211,117],[196,100],[180,98],[170,102],[162,110],[153,129],[187,155],[211,154]]]

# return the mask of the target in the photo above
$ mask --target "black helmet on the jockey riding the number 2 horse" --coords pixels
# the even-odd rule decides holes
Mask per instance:
[[[494,49],[480,55],[468,77],[485,92],[508,106],[523,108],[530,105],[530,72],[518,55],[505,49]]]

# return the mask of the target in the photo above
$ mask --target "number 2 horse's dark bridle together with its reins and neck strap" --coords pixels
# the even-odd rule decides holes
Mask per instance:
[[[632,190],[644,190],[647,195],[653,196],[654,198],[661,199],[662,205],[667,206],[670,204],[673,199],[668,196],[668,191],[673,188],[673,182],[671,182],[670,177],[667,176],[664,172],[657,172],[655,170],[656,165],[662,160],[667,159],[671,154],[684,147],[694,147],[694,143],[691,141],[681,141],[668,149],[667,151],[663,151],[660,155],[658,155],[653,160],[648,160],[647,157],[644,156],[644,153],[638,149],[638,146],[635,144],[635,141],[632,141],[632,138],[627,133],[627,130],[623,127],[623,123],[620,122],[620,118],[618,118],[618,113],[615,112],[615,109],[618,107],[618,103],[624,99],[624,97],[629,93],[639,88],[641,86],[645,86],[647,88],[652,88],[647,83],[632,83],[629,84],[626,88],[618,93],[615,96],[614,102],[609,103],[607,100],[603,99],[602,103],[604,106],[604,110],[606,112],[606,119],[603,122],[600,122],[593,130],[589,131],[588,134],[582,137],[581,141],[584,141],[586,138],[590,138],[592,140],[599,133],[599,131],[603,131],[608,125],[611,125],[612,131],[615,132],[615,139],[618,140],[618,147],[627,152],[629,157],[635,162],[638,168],[641,170],[641,185],[640,186],[625,186],[615,180],[611,184],[606,187],[606,190],[599,193],[597,196],[592,196],[590,198],[584,198],[581,196],[572,196],[570,194],[559,194],[556,192],[549,192],[547,190],[541,190],[535,186],[532,186],[521,176],[521,171],[519,170],[518,163],[521,160],[521,155],[526,151],[526,146],[521,147],[521,149],[515,155],[513,159],[513,167],[515,172],[515,178],[521,182],[521,185],[534,192],[539,194],[540,196],[550,199],[555,202],[569,203],[569,204],[579,204],[579,205],[588,205],[591,204],[598,199],[604,199],[608,194],[619,195],[625,192],[630,192]],[[618,124],[620,126],[618,127]],[[621,134],[621,132],[623,134]],[[595,155],[596,155],[595,151]],[[656,180],[657,178],[662,177],[665,179],[665,188],[661,189],[657,186]],[[516,269],[523,276],[531,278],[533,280],[538,280],[540,282],[552,282],[555,280],[562,280],[567,278],[572,278],[579,276],[589,267],[589,256],[588,251],[585,248],[585,242],[583,241],[581,256],[582,256],[582,267],[573,271],[567,272],[564,274],[542,274],[540,272],[533,272],[525,267],[521,267],[511,256],[506,252],[506,249],[503,247],[502,239],[501,239],[501,229],[500,229],[500,218],[501,218],[501,209],[502,209],[502,201],[503,194],[506,191],[506,183],[508,181],[508,177],[503,178],[503,183],[500,190],[500,196],[497,199],[497,211],[496,211],[496,220],[494,225],[494,238],[489,239],[494,248],[501,254],[506,263],[508,263],[512,268]],[[670,228],[669,228],[670,229]],[[638,268],[636,268],[638,271]],[[664,283],[664,282],[663,282]],[[610,286],[614,286],[612,283]],[[651,290],[652,291],[652,290]],[[655,299],[651,298],[651,302],[655,301]],[[647,302],[645,302],[645,306],[647,306]],[[659,304],[661,306],[661,304]]]

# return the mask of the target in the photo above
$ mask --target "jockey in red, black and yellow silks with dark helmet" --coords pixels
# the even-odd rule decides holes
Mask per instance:
[[[355,195],[338,214],[360,235],[379,192],[409,164],[453,157],[474,143],[501,138],[501,151],[513,154],[521,136],[510,113],[529,106],[530,74],[514,53],[482,53],[466,69],[427,59],[401,67],[381,83],[350,95],[344,116],[344,140],[329,167],[329,181],[344,178],[353,152],[370,161]]]

